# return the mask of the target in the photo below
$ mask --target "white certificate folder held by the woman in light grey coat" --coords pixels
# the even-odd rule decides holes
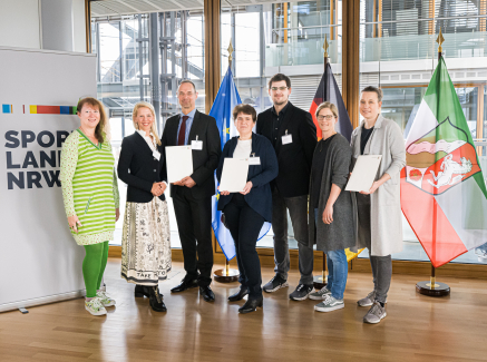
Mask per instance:
[[[357,158],[355,166],[347,184],[348,192],[368,192],[376,180],[382,155],[362,155]]]

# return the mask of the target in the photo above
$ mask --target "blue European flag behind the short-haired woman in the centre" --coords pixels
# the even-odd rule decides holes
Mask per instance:
[[[216,126],[218,127],[220,138],[222,141],[222,149],[230,138],[238,136],[233,121],[232,111],[233,108],[240,104],[242,104],[242,100],[235,87],[235,82],[233,81],[232,70],[228,67],[225,78],[223,78],[222,85],[220,86],[215,101],[213,102],[212,109],[210,110],[210,116],[216,119]],[[214,177],[215,185],[217,187],[218,180],[216,179],[216,173]],[[212,227],[223,254],[225,254],[227,261],[231,261],[236,255],[235,243],[230,234],[230,231],[222,223],[222,212],[217,209],[218,198],[220,193],[218,189],[216,189],[216,196],[212,197]],[[259,239],[262,238],[270,228],[271,224],[264,223],[261,234],[259,235]]]

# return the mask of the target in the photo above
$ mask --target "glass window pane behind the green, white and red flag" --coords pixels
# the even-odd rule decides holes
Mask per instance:
[[[487,33],[479,7],[478,1],[360,1],[360,88],[382,88],[382,114],[401,127],[405,138],[437,65],[440,29],[444,58],[471,136],[476,141],[483,138],[478,119],[486,119],[483,63]],[[483,91],[484,99],[479,97]],[[483,149],[477,147],[480,163],[485,163]],[[406,218],[402,226],[403,252],[392,257],[429,261]],[[477,256],[471,251],[454,262],[477,263]]]

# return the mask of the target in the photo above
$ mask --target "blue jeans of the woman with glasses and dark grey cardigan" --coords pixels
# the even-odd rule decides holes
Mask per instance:
[[[321,215],[320,215],[321,216]],[[318,208],[314,209],[314,224],[323,221],[318,215]],[[335,300],[343,300],[343,292],[347,286],[349,275],[349,263],[344,250],[327,252],[328,260],[328,284],[327,288]]]

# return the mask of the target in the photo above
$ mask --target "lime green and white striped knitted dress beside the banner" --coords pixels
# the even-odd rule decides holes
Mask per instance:
[[[115,208],[119,207],[111,145],[96,146],[77,129],[62,145],[60,180],[66,215],[77,215],[82,226],[71,231],[78,245],[114,239]]]

